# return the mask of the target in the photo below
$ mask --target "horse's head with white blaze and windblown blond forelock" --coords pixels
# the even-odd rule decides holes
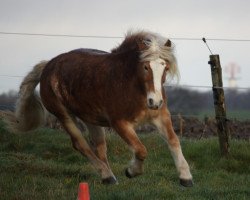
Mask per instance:
[[[141,63],[144,84],[147,93],[147,106],[157,110],[165,101],[163,84],[167,74],[177,73],[175,57],[172,53],[171,41],[165,43],[157,38],[143,39],[137,42],[141,50]]]

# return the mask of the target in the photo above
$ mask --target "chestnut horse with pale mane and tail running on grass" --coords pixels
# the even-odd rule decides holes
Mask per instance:
[[[103,184],[117,184],[108,159],[104,127],[111,127],[133,152],[125,174],[143,173],[147,149],[136,134],[142,123],[155,125],[171,151],[180,184],[193,186],[166,104],[163,84],[178,75],[172,42],[147,31],[129,32],[110,53],[76,49],[34,66],[20,85],[16,129],[33,130],[52,113],[69,134],[73,147],[99,172]],[[35,88],[40,83],[40,96]],[[90,142],[77,127],[86,124]]]

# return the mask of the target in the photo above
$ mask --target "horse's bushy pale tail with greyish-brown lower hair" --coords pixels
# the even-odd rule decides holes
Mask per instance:
[[[8,120],[9,128],[15,132],[26,132],[36,129],[45,123],[45,108],[35,91],[47,61],[35,65],[20,85],[16,103],[15,119]]]

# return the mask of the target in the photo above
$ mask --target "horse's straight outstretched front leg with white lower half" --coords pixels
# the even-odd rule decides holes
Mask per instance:
[[[182,154],[180,141],[174,132],[171,116],[166,107],[161,109],[160,115],[154,119],[153,123],[168,143],[175,166],[179,172],[180,184],[185,187],[193,186],[189,165]]]

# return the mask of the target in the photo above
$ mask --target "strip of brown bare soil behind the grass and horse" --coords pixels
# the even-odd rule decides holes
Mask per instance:
[[[14,120],[14,114],[10,111],[0,111],[0,119],[8,116],[12,116]],[[215,119],[205,118],[204,120],[199,120],[194,117],[172,117],[172,122],[174,130],[179,135],[179,137],[187,138],[208,138],[211,136],[217,136],[217,123]],[[85,130],[85,126],[78,121],[79,127]],[[229,136],[235,139],[245,139],[250,141],[250,120],[249,121],[239,121],[236,119],[227,121]],[[47,118],[47,127],[54,129],[61,129],[60,123],[53,116]],[[143,125],[137,129],[140,134],[152,133],[155,128],[151,125]]]

